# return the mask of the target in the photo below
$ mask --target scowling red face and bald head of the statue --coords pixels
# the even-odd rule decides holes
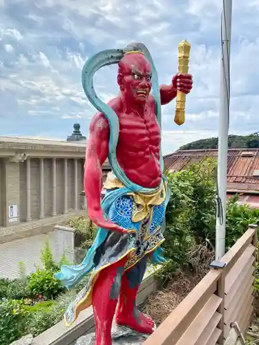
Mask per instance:
[[[119,63],[118,83],[127,101],[145,102],[151,91],[151,64],[140,53],[127,54]]]

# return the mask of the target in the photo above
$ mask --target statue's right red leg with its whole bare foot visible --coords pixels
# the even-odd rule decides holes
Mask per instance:
[[[140,313],[136,306],[137,291],[146,271],[146,261],[147,256],[122,276],[116,323],[128,326],[140,333],[151,334],[155,331],[155,322]]]

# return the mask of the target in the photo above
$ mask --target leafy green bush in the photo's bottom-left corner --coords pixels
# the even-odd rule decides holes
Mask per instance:
[[[0,344],[8,345],[24,335],[26,312],[22,302],[11,300],[0,302]]]

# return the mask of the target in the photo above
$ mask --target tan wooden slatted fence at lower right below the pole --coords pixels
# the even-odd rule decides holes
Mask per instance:
[[[236,322],[246,333],[253,316],[257,227],[222,257],[144,345],[223,345]]]

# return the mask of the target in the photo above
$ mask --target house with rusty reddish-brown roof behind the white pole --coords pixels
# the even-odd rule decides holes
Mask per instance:
[[[218,150],[178,150],[164,156],[164,167],[169,172],[184,170],[193,163],[214,157]],[[229,149],[227,161],[227,196],[240,194],[240,204],[259,208],[259,150]]]

